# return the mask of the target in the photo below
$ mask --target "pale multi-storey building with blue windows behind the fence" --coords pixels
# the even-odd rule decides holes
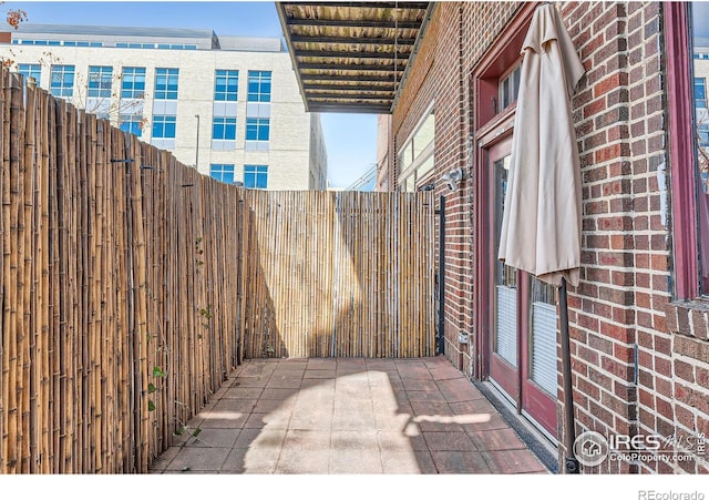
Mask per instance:
[[[22,23],[0,55],[55,96],[219,181],[323,190],[320,119],[279,39]]]

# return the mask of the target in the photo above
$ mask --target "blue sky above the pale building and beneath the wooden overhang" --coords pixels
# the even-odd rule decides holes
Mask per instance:
[[[218,35],[276,37],[282,30],[273,1],[8,1],[37,24],[208,29]],[[377,115],[322,113],[328,180],[347,187],[377,162]]]

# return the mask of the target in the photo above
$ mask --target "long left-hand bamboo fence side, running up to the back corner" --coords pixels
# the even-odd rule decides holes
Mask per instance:
[[[243,190],[0,74],[0,472],[146,472],[240,360]]]

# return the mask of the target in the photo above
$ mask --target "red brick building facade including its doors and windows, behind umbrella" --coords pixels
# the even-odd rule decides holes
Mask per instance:
[[[489,380],[564,463],[556,294],[496,259],[522,42],[537,6],[432,6],[379,185],[442,200],[445,356]],[[582,470],[707,473],[707,12],[555,6],[586,69],[572,101],[583,178],[582,279],[568,290],[575,432],[645,452]]]

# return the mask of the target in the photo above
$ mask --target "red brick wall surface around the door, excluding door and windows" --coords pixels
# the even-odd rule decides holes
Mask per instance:
[[[484,334],[473,331],[480,306],[472,302],[472,235],[475,206],[484,200],[476,200],[470,178],[475,96],[469,79],[517,7],[439,3],[393,113],[393,133],[402,144],[434,101],[436,178],[458,166],[469,175],[455,193],[436,186],[448,200],[446,355],[467,374],[475,355],[470,358],[469,347],[458,344],[458,333]],[[674,232],[661,2],[559,8],[587,69],[573,99],[584,180],[582,283],[569,289],[576,432],[709,435],[709,307],[670,304]],[[394,186],[397,172],[391,173]],[[559,405],[559,442],[562,411]],[[706,462],[661,461],[606,461],[597,469],[709,471]]]

